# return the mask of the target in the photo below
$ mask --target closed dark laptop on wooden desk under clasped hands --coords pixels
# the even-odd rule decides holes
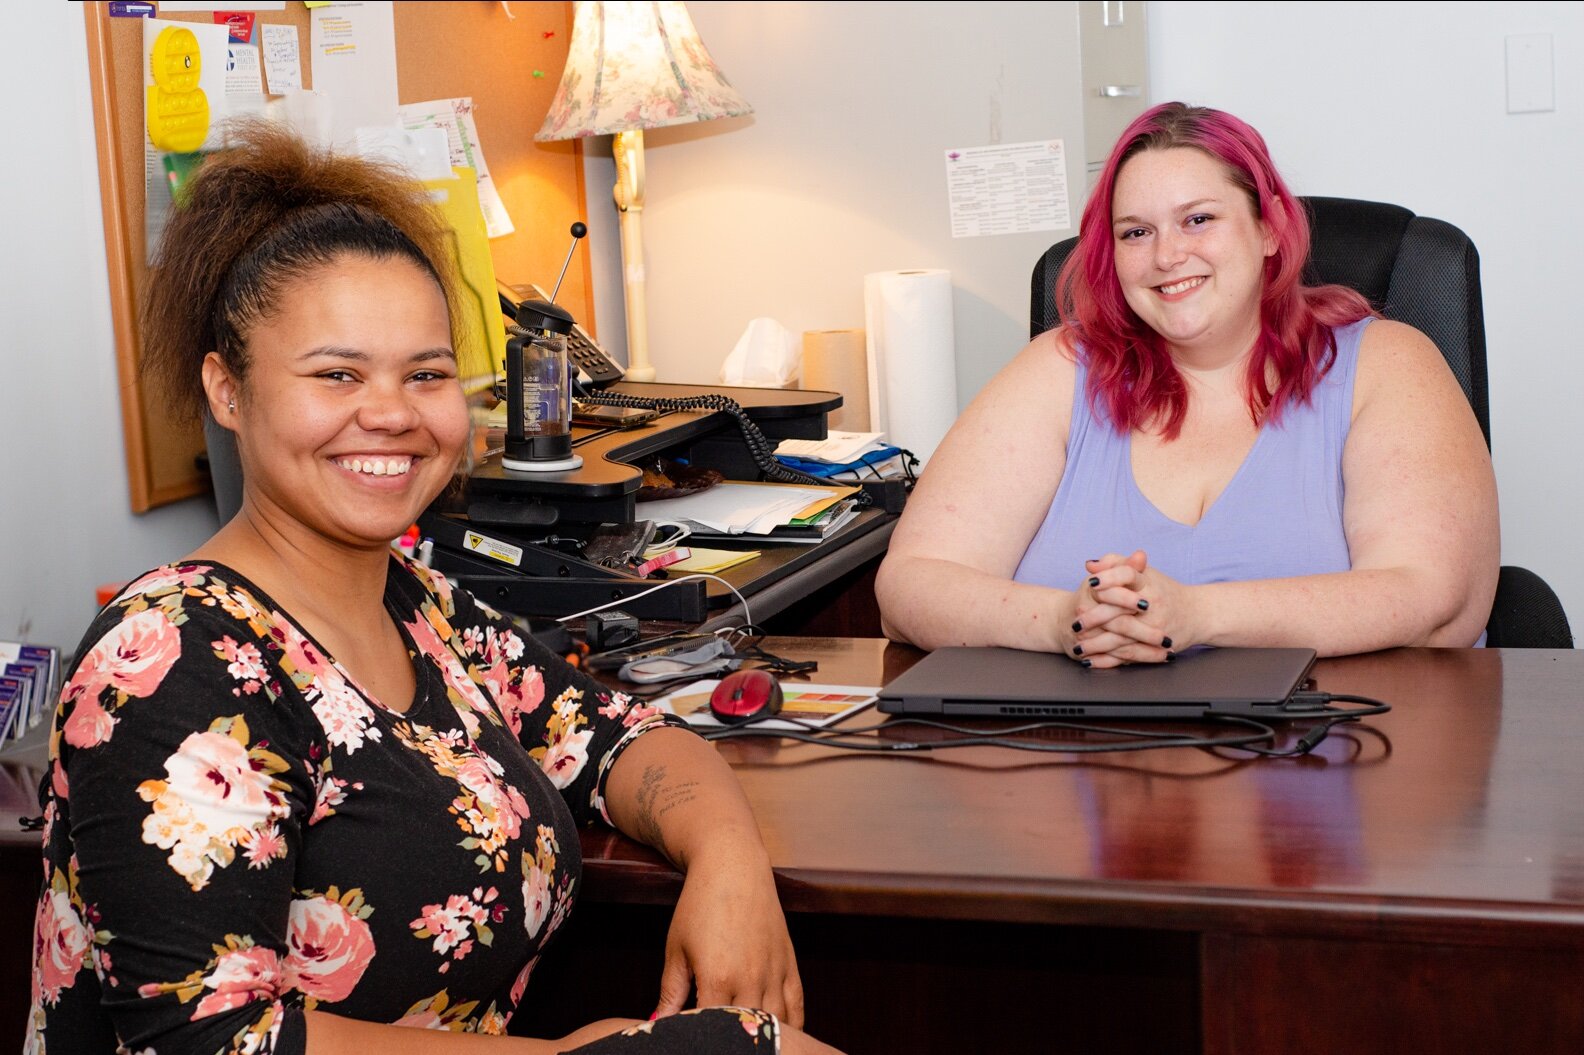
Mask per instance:
[[[1052,653],[938,648],[881,689],[879,707],[980,718],[1283,718],[1313,665],[1312,648],[1201,648],[1109,670]]]

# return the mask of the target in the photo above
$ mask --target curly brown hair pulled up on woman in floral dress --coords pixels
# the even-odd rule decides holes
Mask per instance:
[[[448,234],[406,171],[315,149],[269,122],[233,122],[225,149],[204,158],[160,239],[143,303],[143,369],[168,394],[174,418],[201,420],[204,356],[219,352],[246,383],[249,331],[290,280],[345,253],[406,258],[431,274],[461,350]]]

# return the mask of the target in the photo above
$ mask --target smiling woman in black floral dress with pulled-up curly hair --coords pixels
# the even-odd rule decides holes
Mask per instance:
[[[246,494],[62,692],[29,1050],[832,1052],[713,748],[391,556],[467,437],[440,238],[410,181],[265,127],[173,215],[146,360]],[[505,1034],[594,821],[686,871],[654,1019],[467,1036]]]

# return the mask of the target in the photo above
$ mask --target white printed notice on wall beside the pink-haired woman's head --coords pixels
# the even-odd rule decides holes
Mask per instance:
[[[1061,139],[947,150],[946,192],[952,238],[1072,227]]]

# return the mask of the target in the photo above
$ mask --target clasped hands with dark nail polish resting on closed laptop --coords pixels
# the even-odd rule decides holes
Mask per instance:
[[[1190,586],[1150,567],[1144,550],[1085,561],[1063,607],[1063,651],[1085,667],[1169,662],[1196,643]]]

